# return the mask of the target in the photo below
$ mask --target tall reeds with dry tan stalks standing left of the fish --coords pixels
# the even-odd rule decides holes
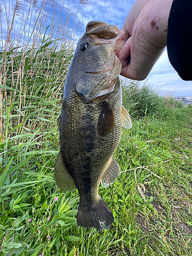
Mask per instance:
[[[77,12],[84,3],[79,2]],[[74,26],[77,13],[70,0],[5,1],[0,9],[2,195],[4,184],[23,183],[24,171],[36,170],[50,155],[55,162],[59,136],[54,126],[81,24]]]

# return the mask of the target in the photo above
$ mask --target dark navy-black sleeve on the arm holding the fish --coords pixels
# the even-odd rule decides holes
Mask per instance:
[[[168,18],[167,53],[179,76],[192,80],[192,0],[173,1]]]

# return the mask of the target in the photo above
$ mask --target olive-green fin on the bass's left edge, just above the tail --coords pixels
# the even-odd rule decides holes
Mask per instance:
[[[76,188],[73,178],[71,177],[65,166],[65,162],[63,161],[61,151],[59,151],[55,163],[54,178],[57,186],[64,191],[70,191]]]

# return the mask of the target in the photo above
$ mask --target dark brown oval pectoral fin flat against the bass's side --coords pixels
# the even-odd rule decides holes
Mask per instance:
[[[114,112],[113,107],[111,107],[107,102],[102,105],[99,113],[97,130],[98,135],[106,136],[115,127]]]

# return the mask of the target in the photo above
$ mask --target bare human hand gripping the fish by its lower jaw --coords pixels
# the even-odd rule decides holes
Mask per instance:
[[[143,80],[166,46],[168,16],[173,0],[137,0],[122,29],[130,38],[119,52],[121,75]]]

